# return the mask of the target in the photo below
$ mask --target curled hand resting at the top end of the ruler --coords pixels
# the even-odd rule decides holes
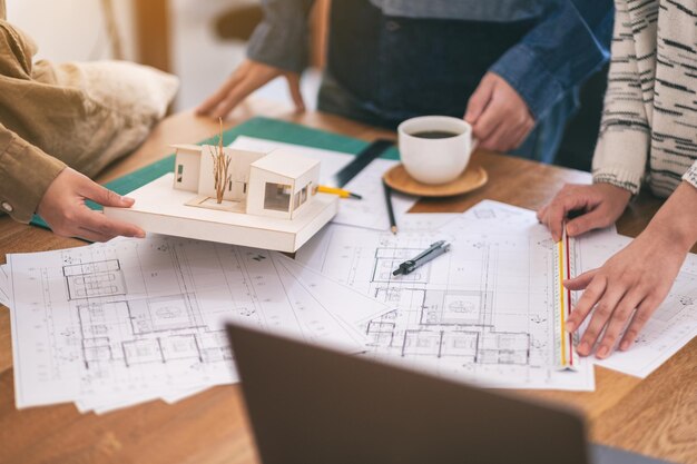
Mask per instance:
[[[538,211],[538,220],[552,233],[554,241],[559,241],[569,211],[583,210],[582,215],[567,223],[567,234],[575,237],[613,224],[622,215],[630,198],[629,190],[610,184],[567,184],[549,205]]]

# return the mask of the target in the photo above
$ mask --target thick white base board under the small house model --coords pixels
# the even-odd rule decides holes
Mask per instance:
[[[187,206],[192,200],[208,196],[174,189],[175,176],[176,172],[167,174],[131,191],[128,196],[136,200],[132,207],[106,207],[105,215],[135,224],[148,233],[294,253],[338,211],[338,197],[320,192],[303,208],[296,208],[292,219],[225,208],[226,204],[244,205],[239,201],[224,200],[217,205],[220,209],[210,205]],[[215,198],[206,201],[215,204]]]

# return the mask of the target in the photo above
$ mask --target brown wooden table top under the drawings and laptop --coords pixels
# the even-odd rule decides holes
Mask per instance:
[[[233,115],[227,126],[253,116],[277,117],[362,139],[393,134],[341,118],[254,101]],[[217,122],[179,113],[163,121],[132,156],[111,166],[108,180],[164,157],[174,141],[196,141],[216,134]],[[414,211],[464,211],[482,199],[536,209],[565,182],[590,176],[507,156],[474,155],[489,171],[482,189],[449,200],[421,201]],[[638,234],[659,201],[642,197],[619,221],[626,235]],[[41,251],[84,243],[0,217],[0,261],[4,255]],[[697,339],[648,378],[640,381],[596,369],[596,391],[524,392],[578,407],[588,418],[591,440],[676,462],[697,463]],[[21,463],[256,463],[240,391],[236,385],[210,388],[175,405],[151,402],[105,416],[79,414],[75,406],[17,411],[12,383],[10,316],[0,307],[0,462]]]

